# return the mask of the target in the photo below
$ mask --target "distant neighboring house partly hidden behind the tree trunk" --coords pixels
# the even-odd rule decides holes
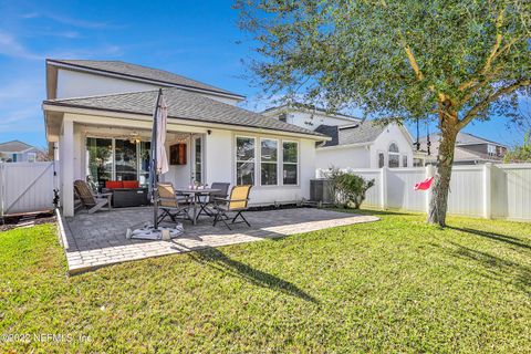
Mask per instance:
[[[426,155],[427,163],[436,163],[439,152],[440,133],[429,135],[431,142],[430,155]],[[427,137],[420,140],[420,150],[427,153]],[[500,163],[507,153],[507,146],[475,136],[468,133],[458,133],[456,150],[454,154],[455,165],[477,165],[485,163]]]

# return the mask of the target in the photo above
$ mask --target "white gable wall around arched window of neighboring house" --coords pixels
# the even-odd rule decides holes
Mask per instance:
[[[384,153],[385,166],[389,165],[388,149],[389,145],[395,143],[400,153],[400,167],[403,166],[403,156],[407,156],[407,167],[413,166],[413,143],[409,140],[406,133],[396,124],[389,124],[387,128],[376,138],[371,146],[371,163],[369,168],[378,168],[378,153]]]

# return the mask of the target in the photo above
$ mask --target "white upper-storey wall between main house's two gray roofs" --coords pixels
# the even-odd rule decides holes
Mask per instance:
[[[58,69],[58,98],[149,91],[164,87],[157,84],[110,77],[92,73]],[[209,98],[236,105],[239,101],[204,94]]]

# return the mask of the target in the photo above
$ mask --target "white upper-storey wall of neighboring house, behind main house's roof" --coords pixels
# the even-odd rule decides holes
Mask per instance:
[[[280,114],[284,112],[281,110],[274,110],[264,112],[263,115],[279,119]],[[320,125],[348,125],[356,123],[356,119],[350,119],[346,117],[339,117],[332,115],[325,115],[322,113],[311,113],[305,111],[285,111],[287,123],[301,126],[303,128],[315,131]]]

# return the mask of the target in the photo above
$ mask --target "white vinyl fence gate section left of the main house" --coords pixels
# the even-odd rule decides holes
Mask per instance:
[[[53,209],[54,166],[0,163],[0,217]]]

